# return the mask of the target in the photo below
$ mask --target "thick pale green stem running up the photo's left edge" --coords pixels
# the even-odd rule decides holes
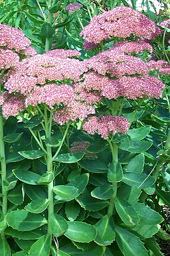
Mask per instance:
[[[0,114],[0,161],[1,161],[1,181],[2,181],[2,218],[7,214],[7,191],[4,189],[4,181],[7,179],[6,163],[5,163],[5,145],[3,141],[3,116]],[[5,227],[4,227],[5,229]],[[5,233],[1,233],[1,237],[5,237]]]

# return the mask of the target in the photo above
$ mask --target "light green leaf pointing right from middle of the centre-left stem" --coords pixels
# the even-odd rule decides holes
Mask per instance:
[[[77,196],[78,189],[72,186],[58,185],[53,188],[53,191],[56,194],[55,198],[57,200],[71,201]]]

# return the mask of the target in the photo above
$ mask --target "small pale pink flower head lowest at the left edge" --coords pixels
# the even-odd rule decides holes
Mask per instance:
[[[2,106],[2,113],[5,119],[8,117],[16,117],[21,111],[25,109],[25,101],[20,95],[12,95],[7,98]]]

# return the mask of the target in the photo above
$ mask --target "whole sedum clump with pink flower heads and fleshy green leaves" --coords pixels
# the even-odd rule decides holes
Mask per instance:
[[[124,6],[94,17],[84,47],[112,48],[85,61],[48,51],[49,38],[35,54],[23,33],[2,27],[11,61],[1,65],[1,255],[163,255],[154,237],[163,218],[147,200],[165,197],[157,177],[168,159],[156,159],[147,123],[169,71],[146,62],[155,23]]]

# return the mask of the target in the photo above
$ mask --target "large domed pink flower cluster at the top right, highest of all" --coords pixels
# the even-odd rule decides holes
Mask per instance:
[[[155,23],[131,7],[116,7],[92,18],[80,35],[87,43],[95,45],[109,37],[126,38],[131,35],[151,39]]]

